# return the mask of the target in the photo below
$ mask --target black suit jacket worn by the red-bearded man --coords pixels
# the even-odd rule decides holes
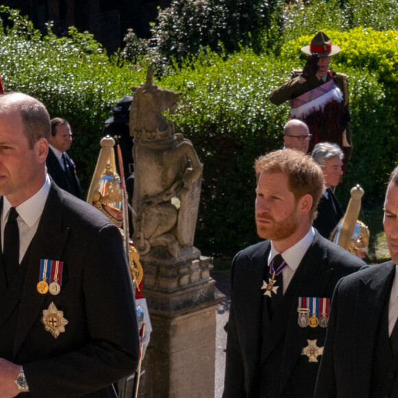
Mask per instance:
[[[299,268],[283,296],[283,307],[274,315],[266,337],[261,337],[263,294],[270,242],[261,242],[235,256],[231,268],[231,310],[226,345],[224,397],[258,397],[258,373],[261,364],[276,364],[279,395],[275,397],[312,397],[318,362],[301,355],[307,340],[323,347],[326,331],[322,327],[299,327],[298,298],[331,297],[341,277],[359,270],[364,262],[336,246],[318,233],[305,253]],[[274,350],[283,342],[282,358]],[[318,357],[319,359],[319,357]],[[281,366],[277,365],[281,362]],[[267,398],[275,398],[272,395]]]

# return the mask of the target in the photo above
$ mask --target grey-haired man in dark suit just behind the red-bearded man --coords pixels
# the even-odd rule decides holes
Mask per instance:
[[[332,189],[340,183],[344,154],[336,143],[322,142],[314,146],[311,156],[323,171],[326,187],[318,204],[318,215],[314,220],[314,227],[320,235],[329,239],[333,229],[344,215]]]

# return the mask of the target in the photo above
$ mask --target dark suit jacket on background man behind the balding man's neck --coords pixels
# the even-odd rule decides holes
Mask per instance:
[[[82,198],[82,189],[80,188],[79,178],[75,172],[75,164],[67,152],[65,152],[65,156],[67,158],[69,169],[72,172],[71,180],[68,180],[65,170],[62,169],[60,162],[51,148],[49,148],[47,160],[45,162],[47,165],[47,172],[58,187],[64,189],[64,191],[69,192],[69,194],[72,194],[77,198]]]

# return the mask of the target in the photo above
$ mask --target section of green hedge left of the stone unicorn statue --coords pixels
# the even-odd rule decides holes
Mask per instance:
[[[104,120],[113,104],[144,80],[145,71],[119,69],[100,43],[75,27],[57,38],[48,25],[44,38],[16,10],[1,6],[0,66],[5,91],[42,101],[51,117],[65,117],[73,130],[71,156],[88,188],[98,156]]]

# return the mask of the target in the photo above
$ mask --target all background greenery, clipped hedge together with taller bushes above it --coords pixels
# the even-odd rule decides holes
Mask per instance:
[[[342,47],[331,66],[349,79],[353,123],[353,157],[338,197],[347,204],[349,189],[360,183],[364,201],[379,202],[398,150],[398,29],[397,10],[388,9],[392,0],[366,2],[372,16],[362,3],[355,2],[358,8],[353,8],[351,0],[318,0],[314,5],[301,0],[263,5],[253,1],[251,11],[261,14],[261,7],[266,8],[261,14],[264,34],[250,28],[257,25],[244,25],[244,14],[231,19],[230,10],[242,11],[244,3],[214,2],[195,0],[187,5],[176,0],[172,8],[176,14],[172,10],[160,14],[163,25],[146,54],[140,46],[150,43],[142,43],[130,32],[133,45],[124,51],[130,51],[126,58],[134,63],[119,62],[120,56],[109,58],[91,34],[74,28],[67,37],[57,38],[49,25],[42,38],[30,21],[2,7],[0,71],[5,90],[34,95],[52,117],[69,119],[75,138],[72,156],[87,188],[111,106],[130,94],[130,86],[145,80],[149,60],[167,64],[167,74],[156,84],[182,94],[173,115],[176,130],[194,142],[204,163],[196,246],[207,254],[229,255],[257,241],[253,163],[283,142],[288,104],[274,106],[268,94],[292,69],[303,65],[305,56],[299,49],[314,32],[327,28],[333,43]],[[228,37],[232,23],[239,25],[242,36]],[[379,31],[368,26],[373,23]],[[154,44],[165,47],[156,53]],[[263,45],[266,51],[261,51]],[[239,46],[239,51],[229,53]]]

